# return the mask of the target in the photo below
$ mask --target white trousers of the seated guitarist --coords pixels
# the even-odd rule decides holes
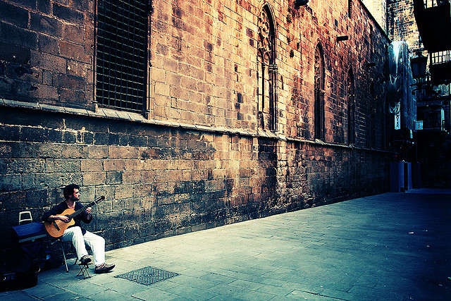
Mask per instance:
[[[61,240],[72,241],[78,259],[87,255],[86,244],[92,250],[94,264],[99,266],[105,263],[105,240],[101,236],[89,231],[86,231],[85,235],[83,235],[82,229],[77,226],[67,228],[66,231],[64,231],[63,236],[61,236]]]

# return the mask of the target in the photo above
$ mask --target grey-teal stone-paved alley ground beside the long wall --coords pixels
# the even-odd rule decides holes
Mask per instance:
[[[0,299],[451,300],[450,208],[451,190],[351,199],[112,250],[109,274],[61,266]],[[117,277],[148,266],[172,277]]]

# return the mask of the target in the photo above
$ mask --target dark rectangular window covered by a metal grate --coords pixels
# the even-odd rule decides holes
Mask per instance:
[[[97,8],[97,102],[144,111],[147,1],[99,0]]]

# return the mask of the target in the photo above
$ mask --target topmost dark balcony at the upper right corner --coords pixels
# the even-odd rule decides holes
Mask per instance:
[[[414,0],[414,16],[424,48],[432,52],[451,49],[450,0]]]

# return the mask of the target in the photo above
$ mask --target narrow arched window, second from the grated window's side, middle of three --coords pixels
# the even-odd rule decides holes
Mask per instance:
[[[324,138],[324,55],[321,44],[315,49],[314,78],[314,137]]]

